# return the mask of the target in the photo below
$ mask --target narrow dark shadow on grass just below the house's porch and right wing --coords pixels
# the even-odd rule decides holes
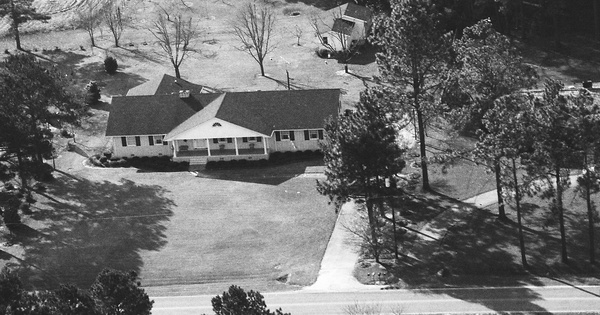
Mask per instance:
[[[307,173],[307,167],[311,166],[323,166],[323,159],[314,158],[306,161],[253,168],[199,170],[197,177],[277,186]]]

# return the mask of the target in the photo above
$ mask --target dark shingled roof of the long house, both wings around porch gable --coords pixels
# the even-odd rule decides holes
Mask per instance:
[[[223,97],[219,97],[223,96]],[[273,130],[323,128],[339,111],[340,90],[281,90],[114,97],[107,136],[168,134],[211,102],[211,113],[232,124],[270,135]],[[209,117],[199,117],[204,121]],[[185,128],[187,129],[187,128]]]

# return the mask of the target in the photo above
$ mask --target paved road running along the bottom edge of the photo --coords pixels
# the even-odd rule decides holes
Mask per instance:
[[[600,314],[600,286],[547,286],[386,290],[363,292],[266,293],[271,310],[281,307],[292,315],[346,314],[348,305],[375,305],[382,314],[474,314],[526,312]],[[213,314],[210,295],[152,297],[152,314]]]

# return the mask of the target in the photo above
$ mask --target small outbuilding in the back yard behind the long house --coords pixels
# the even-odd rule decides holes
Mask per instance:
[[[372,25],[372,13],[367,7],[349,2],[327,10],[316,23],[321,45],[341,51],[366,42]]]

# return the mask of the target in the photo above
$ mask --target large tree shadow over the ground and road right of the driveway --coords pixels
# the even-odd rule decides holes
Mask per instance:
[[[560,263],[560,238],[556,227],[552,230],[537,229],[525,226],[525,244],[527,259],[530,265],[525,270],[521,265],[520,250],[518,246],[518,227],[515,213],[509,211],[509,217],[513,221],[503,222],[497,220],[496,215],[462,204],[451,198],[429,200],[422,198],[418,202],[427,203],[423,207],[446,207],[447,210],[440,212],[438,217],[430,221],[435,229],[443,229],[437,241],[427,238],[418,238],[407,234],[403,240],[403,257],[396,267],[388,266],[390,271],[401,279],[408,287],[422,288],[431,294],[448,294],[452,297],[484,305],[495,311],[528,311],[544,312],[545,310],[534,303],[539,299],[537,293],[524,288],[525,285],[542,285],[540,277],[554,279],[552,276],[559,275],[563,280],[557,280],[576,287],[574,283],[583,277],[591,276],[598,279],[597,266],[585,263],[587,251],[585,245],[581,244],[577,235],[570,235],[569,254],[571,263],[569,265]],[[452,206],[454,210],[450,210]],[[529,207],[527,212],[536,208]],[[463,216],[460,216],[460,212]],[[458,216],[447,217],[453,211]],[[567,220],[570,220],[567,216]],[[412,219],[412,218],[411,218]],[[430,219],[427,219],[430,220]],[[436,222],[437,220],[437,222]],[[582,224],[582,223],[579,223]],[[575,226],[575,225],[573,225]],[[587,233],[585,229],[579,229],[579,233]],[[412,258],[414,257],[414,258]],[[416,258],[416,259],[415,259]],[[450,271],[449,277],[437,275],[440,270]],[[591,270],[591,272],[590,272]],[[544,281],[545,282],[545,281]],[[506,299],[519,297],[524,302],[507,303],[506,299],[494,299],[485,297],[478,290],[428,290],[428,287],[487,287],[487,286],[509,286],[515,287],[501,290],[500,293]],[[498,292],[498,291],[494,291]],[[592,292],[588,292],[592,293]],[[490,294],[490,293],[487,293]],[[493,294],[493,293],[492,293]],[[507,308],[508,307],[508,308]]]

